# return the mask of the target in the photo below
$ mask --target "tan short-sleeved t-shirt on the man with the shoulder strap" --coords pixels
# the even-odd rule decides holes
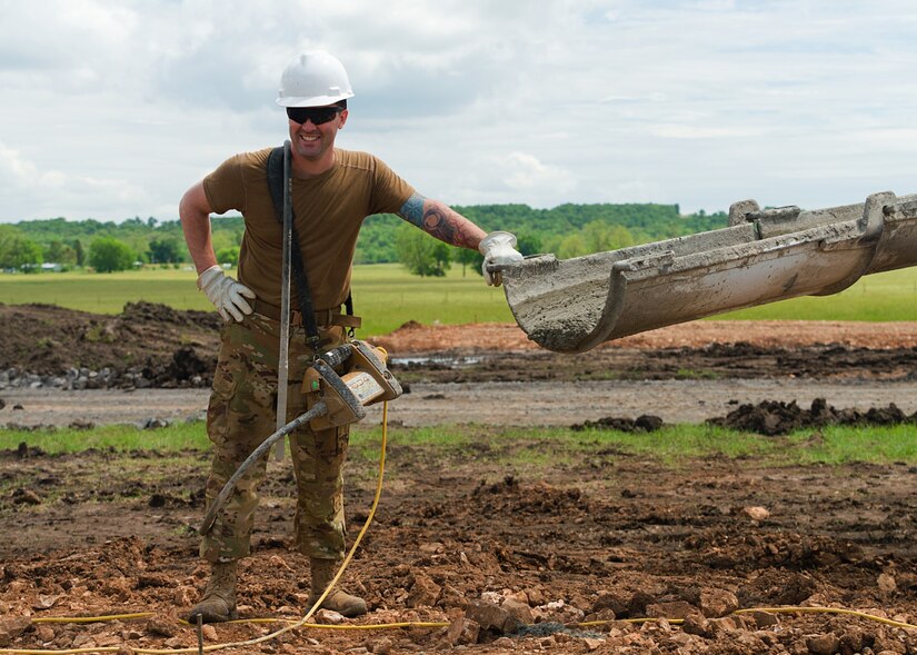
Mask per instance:
[[[259,299],[280,306],[281,227],[268,190],[271,148],[227,159],[203,179],[216,214],[236,209],[246,231],[239,252],[239,281]],[[357,236],[367,216],[395,214],[413,193],[383,161],[367,152],[335,149],[335,166],[320,176],[292,181],[299,247],[316,310],[340,307],[350,291]],[[299,307],[296,285],[291,304]]]

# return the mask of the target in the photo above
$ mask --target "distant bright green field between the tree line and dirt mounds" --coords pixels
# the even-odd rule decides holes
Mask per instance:
[[[118,274],[0,275],[0,302],[47,302],[99,314],[118,314],[124,302],[148,300],[177,309],[210,309],[191,270]],[[353,299],[363,317],[360,336],[390,333],[408,320],[422,324],[511,322],[501,289],[453,267],[445,278],[409,275],[397,264],[357,266]],[[720,315],[727,319],[917,320],[917,268],[866,277],[827,297],[806,297]]]

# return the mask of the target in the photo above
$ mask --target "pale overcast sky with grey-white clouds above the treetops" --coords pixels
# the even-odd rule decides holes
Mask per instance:
[[[456,205],[917,192],[917,2],[0,0],[0,221],[178,217],[326,49],[338,146]]]

